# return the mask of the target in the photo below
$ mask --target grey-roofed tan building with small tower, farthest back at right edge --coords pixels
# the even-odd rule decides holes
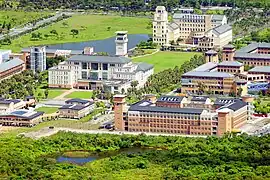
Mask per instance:
[[[270,43],[251,43],[240,50],[223,48],[222,61],[239,61],[248,66],[270,66]]]

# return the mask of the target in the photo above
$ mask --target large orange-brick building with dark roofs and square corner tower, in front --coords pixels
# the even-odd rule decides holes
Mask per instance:
[[[207,97],[192,99],[162,96],[155,100],[152,95],[128,107],[125,96],[116,95],[115,127],[129,132],[222,136],[241,127],[248,119],[245,99],[224,101],[218,108]]]

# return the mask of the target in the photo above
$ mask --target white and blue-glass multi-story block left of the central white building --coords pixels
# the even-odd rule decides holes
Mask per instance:
[[[30,48],[30,67],[34,72],[46,70],[46,47]]]

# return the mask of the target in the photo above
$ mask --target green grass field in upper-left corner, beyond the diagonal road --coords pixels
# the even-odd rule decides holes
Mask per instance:
[[[23,25],[29,21],[37,20],[41,17],[45,17],[50,12],[25,12],[25,11],[0,11],[0,24],[11,23],[11,28],[18,25]]]

